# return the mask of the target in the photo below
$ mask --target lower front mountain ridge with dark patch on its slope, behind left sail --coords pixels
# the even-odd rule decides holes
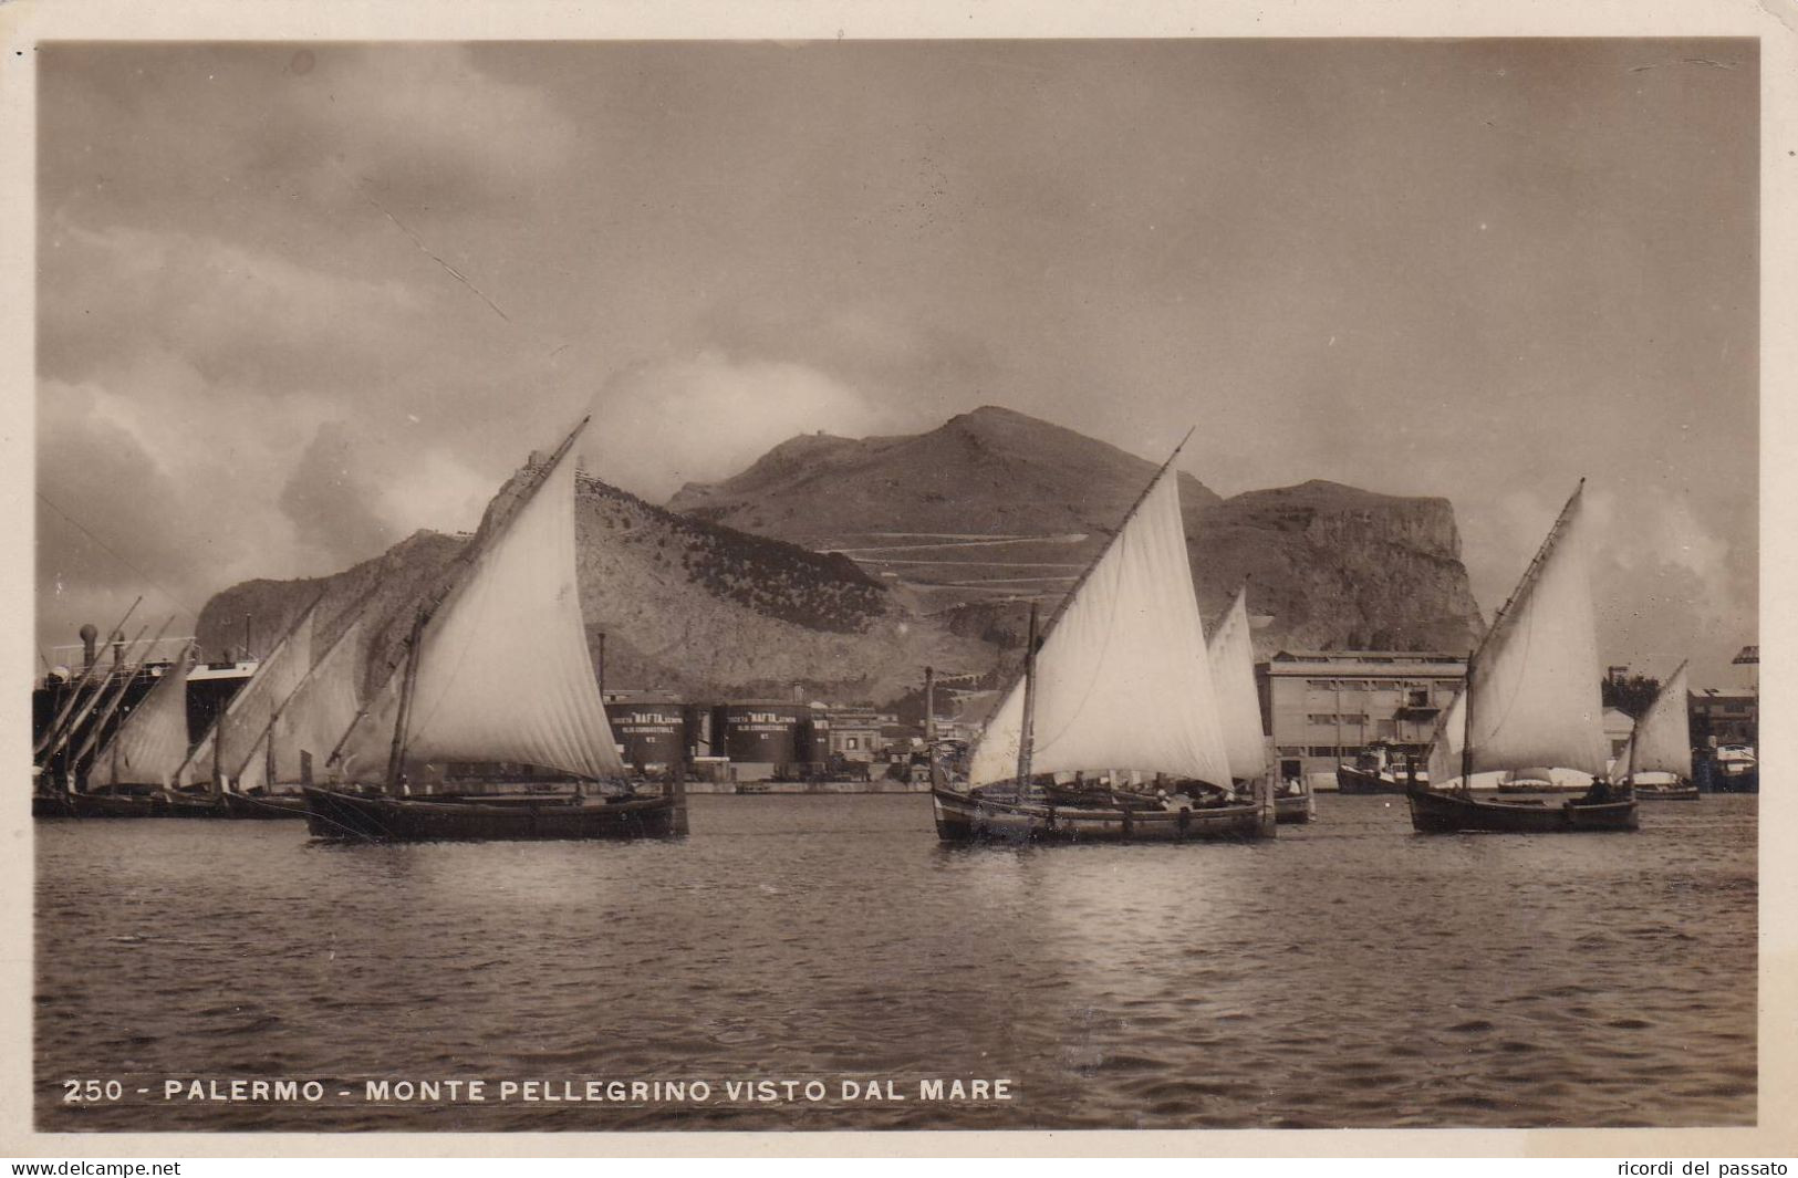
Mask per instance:
[[[581,606],[595,665],[606,635],[608,689],[789,698],[797,683],[807,698],[881,701],[901,696],[926,665],[991,662],[978,638],[917,617],[903,590],[847,558],[680,516],[593,478],[577,486]],[[378,626],[365,683],[374,685],[466,543],[419,532],[331,577],[236,585],[201,610],[201,647],[237,646],[248,617],[254,649],[266,655],[320,593],[324,642],[347,626],[343,611],[372,593],[367,608]]]

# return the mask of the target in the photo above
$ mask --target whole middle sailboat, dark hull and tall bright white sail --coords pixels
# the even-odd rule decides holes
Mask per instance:
[[[931,786],[944,842],[1273,834],[1268,777],[1255,797],[1232,788],[1174,457],[1041,638],[1030,606],[1023,669],[975,745],[967,781]]]

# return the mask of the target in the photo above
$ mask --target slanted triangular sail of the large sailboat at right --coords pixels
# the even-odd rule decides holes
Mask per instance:
[[[1580,504],[1582,491],[1575,491],[1559,531],[1480,646],[1462,696],[1438,727],[1429,755],[1433,782],[1444,781],[1438,770],[1460,777],[1467,741],[1474,773],[1518,766],[1606,772],[1609,743]]]

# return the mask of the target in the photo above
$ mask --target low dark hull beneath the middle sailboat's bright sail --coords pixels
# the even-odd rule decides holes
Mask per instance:
[[[937,788],[931,790],[931,804],[937,811],[937,838],[953,843],[1246,840],[1271,838],[1275,825],[1273,808],[1257,802],[1167,811],[1133,806],[1050,806]]]

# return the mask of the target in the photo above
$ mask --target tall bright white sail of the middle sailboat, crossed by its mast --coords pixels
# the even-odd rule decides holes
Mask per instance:
[[[1018,773],[1019,678],[987,723],[969,784]],[[1162,471],[1036,656],[1032,773],[1127,768],[1230,784],[1179,487]]]

